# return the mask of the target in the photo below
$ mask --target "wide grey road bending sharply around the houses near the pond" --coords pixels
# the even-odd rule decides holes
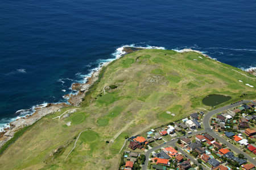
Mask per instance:
[[[243,103],[249,103],[249,102],[252,102],[252,101],[242,101],[242,102],[238,102],[238,103],[235,103],[233,105],[227,105],[227,106],[224,106],[224,107],[221,107],[219,109],[216,109],[216,110],[213,110],[213,111],[210,111],[208,114],[206,114],[203,118],[203,125],[204,125],[204,129],[205,129],[205,132],[207,132],[209,135],[213,136],[213,138],[217,138],[218,141],[220,141],[221,143],[224,143],[226,144],[226,146],[228,148],[230,148],[231,151],[234,151],[236,152],[237,154],[243,154],[245,155],[245,158],[250,161],[251,163],[253,163],[254,165],[256,164],[256,160],[254,160],[250,155],[246,154],[245,152],[243,152],[241,150],[241,148],[237,148],[236,146],[234,146],[233,144],[229,143],[228,141],[226,141],[226,139],[222,138],[220,135],[218,135],[216,132],[214,132],[213,130],[210,129],[210,123],[209,123],[209,120],[210,118],[214,115],[214,114],[217,114],[217,113],[220,113],[221,111],[224,111],[224,110],[227,110],[227,109],[232,109],[233,107],[237,107],[237,106],[240,106],[242,105]],[[253,102],[254,104],[256,104],[255,102]]]

